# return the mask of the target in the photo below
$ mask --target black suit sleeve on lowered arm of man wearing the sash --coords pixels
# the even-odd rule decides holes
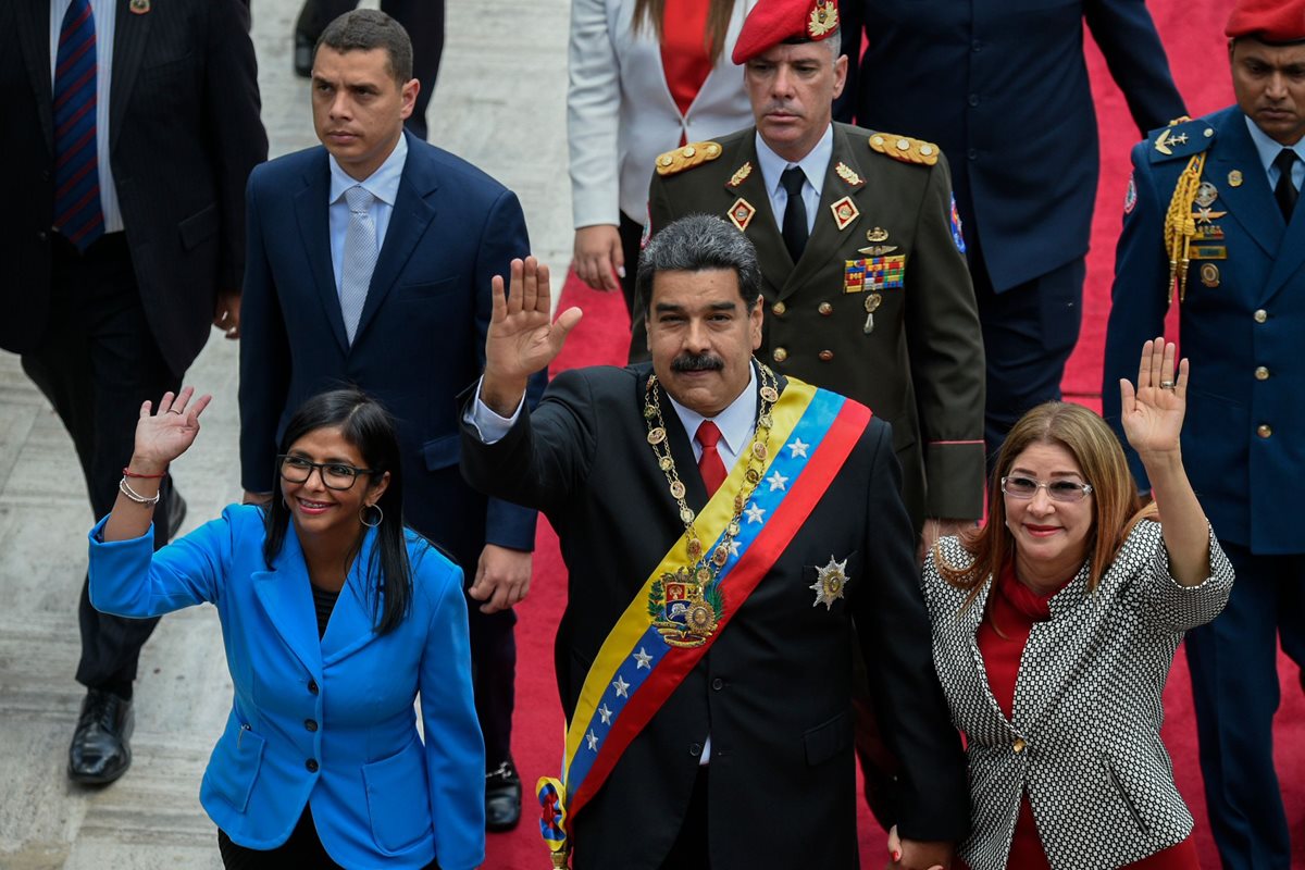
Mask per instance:
[[[898,833],[911,840],[959,841],[970,826],[964,753],[933,668],[891,428],[872,425],[865,436],[874,454],[865,513],[870,574],[853,607],[880,730],[900,762],[895,822]]]

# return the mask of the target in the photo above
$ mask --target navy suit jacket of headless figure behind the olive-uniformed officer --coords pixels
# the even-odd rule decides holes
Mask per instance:
[[[1099,170],[1083,22],[1138,130],[1184,113],[1144,0],[844,0],[840,116],[937,142],[997,292],[1087,253]],[[869,40],[857,64],[861,33]],[[857,69],[859,67],[859,69]]]

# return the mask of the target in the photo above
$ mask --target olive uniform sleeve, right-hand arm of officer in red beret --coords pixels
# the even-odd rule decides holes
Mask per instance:
[[[951,236],[951,175],[933,167],[907,266],[906,334],[924,473],[925,515],[979,519],[984,488],[984,355],[966,258]]]

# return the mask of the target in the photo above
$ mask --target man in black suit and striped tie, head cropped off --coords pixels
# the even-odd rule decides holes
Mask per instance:
[[[0,4],[13,167],[0,347],[59,412],[97,519],[125,480],[141,403],[180,385],[210,322],[239,334],[244,185],[268,155],[248,26],[236,0]],[[158,517],[162,545],[179,518]],[[110,783],[130,764],[132,682],[154,625],[97,612],[84,584],[73,780]]]

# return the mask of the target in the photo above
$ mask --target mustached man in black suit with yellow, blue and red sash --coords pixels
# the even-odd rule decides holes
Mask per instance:
[[[859,866],[855,620],[903,764],[894,866],[946,866],[966,771],[891,428],[752,357],[761,271],[724,220],[662,228],[637,284],[651,364],[565,372],[531,411],[579,312],[549,323],[547,269],[514,261],[463,417],[463,475],[544,511],[570,574],[545,839],[577,870]]]

